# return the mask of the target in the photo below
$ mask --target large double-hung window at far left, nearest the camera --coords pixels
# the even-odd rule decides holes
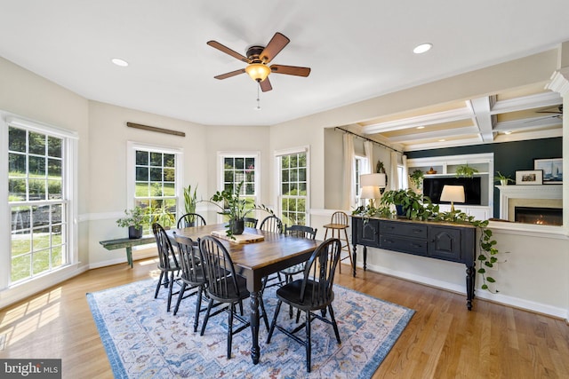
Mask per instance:
[[[9,259],[3,262],[9,271],[4,270],[7,280],[1,283],[5,288],[44,276],[76,259],[75,228],[70,220],[76,217],[72,200],[77,138],[68,130],[11,117],[0,123],[6,127],[2,139],[7,144],[1,150],[8,163],[10,214],[10,234],[5,235],[10,243]]]

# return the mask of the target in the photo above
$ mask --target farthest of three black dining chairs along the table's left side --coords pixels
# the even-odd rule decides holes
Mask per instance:
[[[152,224],[152,233],[156,240],[156,248],[158,249],[158,269],[160,270],[160,277],[156,284],[156,292],[154,298],[158,297],[160,288],[168,288],[168,304],[166,310],[170,312],[170,304],[172,304],[172,289],[174,281],[180,272],[180,264],[178,258],[172,248],[172,242],[168,238],[166,231],[162,225],[158,223]]]

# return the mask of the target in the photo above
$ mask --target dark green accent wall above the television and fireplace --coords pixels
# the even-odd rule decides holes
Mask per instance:
[[[533,170],[534,159],[561,158],[563,156],[563,138],[542,138],[527,141],[502,142],[459,147],[445,147],[433,150],[406,152],[408,159],[431,156],[461,154],[494,154],[494,170],[516,179],[517,170]],[[500,193],[494,191],[494,217],[500,216]]]

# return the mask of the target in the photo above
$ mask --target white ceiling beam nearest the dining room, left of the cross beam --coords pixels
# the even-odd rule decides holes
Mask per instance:
[[[434,114],[423,114],[395,121],[374,123],[364,126],[362,131],[364,134],[383,133],[386,131],[416,128],[418,126],[434,125],[443,122],[460,121],[471,117],[472,109],[470,107],[463,107]]]

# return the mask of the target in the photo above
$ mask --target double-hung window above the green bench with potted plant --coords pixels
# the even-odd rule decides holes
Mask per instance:
[[[180,199],[181,150],[129,142],[129,189],[136,206],[145,209],[148,223],[144,234],[152,233],[151,224],[175,226]]]

